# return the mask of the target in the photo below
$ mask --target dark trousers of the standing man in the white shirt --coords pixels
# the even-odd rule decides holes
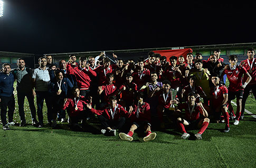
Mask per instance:
[[[37,104],[37,116],[39,120],[39,124],[43,125],[43,104],[44,100],[47,107],[47,118],[48,122],[52,120],[52,100],[48,91],[36,91],[36,104]]]

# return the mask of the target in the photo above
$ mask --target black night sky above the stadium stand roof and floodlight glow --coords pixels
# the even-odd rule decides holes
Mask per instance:
[[[72,53],[255,42],[256,3],[5,0],[0,51]]]

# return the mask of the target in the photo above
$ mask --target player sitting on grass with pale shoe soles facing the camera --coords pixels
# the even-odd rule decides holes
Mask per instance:
[[[151,124],[149,123],[151,120],[150,106],[148,103],[144,102],[143,99],[144,94],[142,92],[138,93],[138,105],[134,105],[135,108],[131,114],[132,125],[130,131],[127,134],[122,132],[119,133],[119,137],[122,140],[132,141],[132,135],[139,127],[146,129],[146,137],[143,139],[145,142],[154,140],[156,138],[156,133],[151,133]]]

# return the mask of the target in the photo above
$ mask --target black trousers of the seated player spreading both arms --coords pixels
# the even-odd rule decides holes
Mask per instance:
[[[125,124],[125,117],[120,117],[118,120],[109,120],[100,115],[98,116],[98,119],[100,120],[103,129],[110,127],[113,130],[120,130]]]

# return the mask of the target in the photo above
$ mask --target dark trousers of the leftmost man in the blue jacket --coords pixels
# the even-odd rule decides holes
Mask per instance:
[[[1,120],[3,125],[7,124],[6,120],[6,113],[7,113],[7,107],[8,107],[8,122],[13,122],[13,113],[15,109],[15,99],[14,95],[10,97],[0,97],[0,109],[1,109]]]

